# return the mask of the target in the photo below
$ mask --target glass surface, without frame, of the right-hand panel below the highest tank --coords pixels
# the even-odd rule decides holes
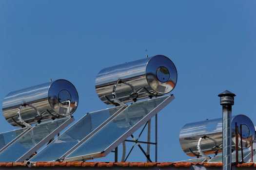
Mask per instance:
[[[168,96],[151,99],[148,101],[133,103],[124,109],[118,116],[106,124],[94,136],[85,141],[66,158],[79,157],[106,150],[120,136],[129,131],[139,120],[154,110]],[[121,141],[122,142],[122,141]]]

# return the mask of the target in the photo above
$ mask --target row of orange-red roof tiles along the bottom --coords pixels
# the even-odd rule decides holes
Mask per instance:
[[[222,163],[191,163],[191,162],[37,162],[32,164],[33,167],[222,167]],[[24,167],[26,163],[3,162],[0,167]],[[236,167],[256,167],[256,163],[237,164]]]

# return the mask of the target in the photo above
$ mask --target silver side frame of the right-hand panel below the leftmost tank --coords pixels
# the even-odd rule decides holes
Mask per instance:
[[[62,118],[64,119],[64,118]],[[58,119],[57,119],[58,120]],[[24,153],[19,159],[17,159],[15,162],[23,162],[25,161],[30,155],[35,153],[38,149],[40,149],[47,141],[51,140],[54,136],[56,136],[60,131],[62,131],[65,127],[67,127],[70,123],[74,121],[74,117],[71,116],[69,119],[67,119],[65,122],[63,122],[57,129],[55,129],[53,132],[51,132],[49,135],[44,137],[37,145],[35,145],[33,148],[31,148],[29,151]],[[50,121],[51,122],[51,121]],[[49,122],[46,122],[49,123]],[[35,127],[35,126],[34,126]],[[33,128],[32,128],[33,129]]]

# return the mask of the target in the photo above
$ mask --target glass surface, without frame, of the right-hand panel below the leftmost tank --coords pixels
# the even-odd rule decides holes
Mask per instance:
[[[69,118],[42,123],[34,126],[19,140],[0,153],[0,162],[16,162],[22,155],[36,146],[43,138],[56,130]]]

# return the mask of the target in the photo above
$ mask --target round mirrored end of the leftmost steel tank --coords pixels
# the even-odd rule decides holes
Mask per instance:
[[[48,90],[48,101],[55,113],[59,116],[68,116],[77,109],[78,92],[69,81],[56,80]]]

